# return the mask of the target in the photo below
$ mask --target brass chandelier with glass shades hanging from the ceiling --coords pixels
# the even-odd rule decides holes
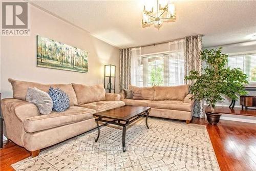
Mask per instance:
[[[150,26],[154,23],[156,28],[160,28],[163,22],[175,22],[175,6],[170,0],[145,0],[142,18],[142,27]]]

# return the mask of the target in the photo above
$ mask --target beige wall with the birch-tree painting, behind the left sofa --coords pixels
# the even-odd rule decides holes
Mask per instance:
[[[88,51],[89,72],[79,73],[36,67],[36,35]],[[1,37],[1,44],[0,87],[3,97],[12,97],[8,78],[41,83],[103,83],[106,64],[117,67],[116,92],[119,92],[119,49],[36,7],[31,6],[31,35]]]

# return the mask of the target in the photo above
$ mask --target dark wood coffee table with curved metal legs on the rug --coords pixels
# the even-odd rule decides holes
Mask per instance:
[[[148,114],[150,113],[150,109],[151,109],[150,107],[144,107],[144,106],[124,105],[119,108],[93,114],[93,116],[97,117],[95,121],[98,126],[98,136],[95,142],[97,142],[99,139],[99,133],[100,133],[99,122],[119,125],[123,127],[122,145],[123,145],[123,152],[125,152],[126,151],[126,148],[125,148],[126,126],[136,121],[140,117],[146,116],[146,127],[147,129],[149,129],[147,125],[147,117],[148,117]],[[108,120],[105,120],[103,118],[107,118]]]

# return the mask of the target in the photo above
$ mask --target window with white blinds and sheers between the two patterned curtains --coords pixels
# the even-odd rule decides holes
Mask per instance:
[[[138,55],[132,50],[132,84],[138,87],[184,84],[184,40],[169,42],[169,52]]]

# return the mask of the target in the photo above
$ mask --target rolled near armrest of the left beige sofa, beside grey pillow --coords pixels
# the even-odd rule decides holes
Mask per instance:
[[[6,98],[1,101],[5,122],[6,137],[14,143],[24,146],[24,126],[26,118],[40,115],[36,105],[25,100]]]

